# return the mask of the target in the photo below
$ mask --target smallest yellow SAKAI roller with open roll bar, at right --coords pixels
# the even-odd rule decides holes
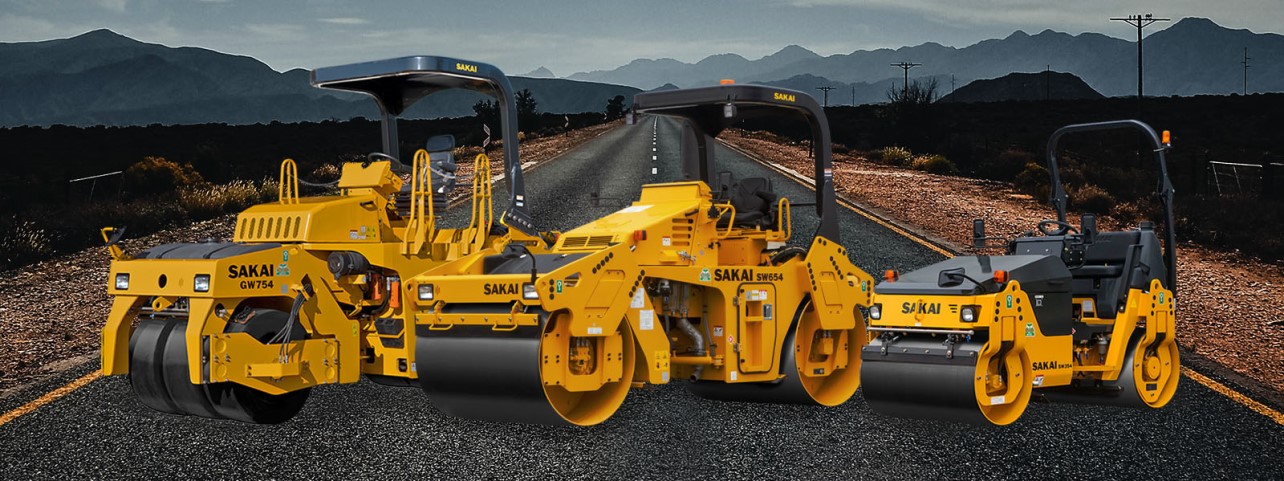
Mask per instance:
[[[1154,148],[1162,231],[1100,232],[1066,222],[1057,144],[1077,132],[1136,130]],[[863,395],[885,414],[1008,425],[1032,392],[1049,400],[1161,408],[1177,389],[1176,233],[1163,139],[1138,121],[1062,127],[1048,142],[1055,221],[1004,242],[973,221],[969,255],[874,287]],[[1163,242],[1159,236],[1163,236]]]

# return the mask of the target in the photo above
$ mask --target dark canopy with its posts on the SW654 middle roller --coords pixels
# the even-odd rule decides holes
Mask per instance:
[[[810,95],[796,90],[761,85],[720,85],[715,87],[681,89],[642,92],[633,97],[638,113],[681,117],[696,130],[697,160],[693,171],[705,183],[713,185],[713,139],[723,130],[746,118],[796,114],[811,127],[815,150],[815,210],[820,217],[817,235],[838,241],[837,203],[831,169],[829,122],[824,109]]]

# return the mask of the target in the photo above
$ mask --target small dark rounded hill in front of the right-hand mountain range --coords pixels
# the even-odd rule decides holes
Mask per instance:
[[[1084,100],[1104,95],[1089,87],[1073,73],[1009,73],[999,78],[973,81],[939,101],[1004,101],[1004,100]]]

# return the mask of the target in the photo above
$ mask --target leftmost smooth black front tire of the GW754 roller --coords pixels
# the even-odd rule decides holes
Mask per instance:
[[[176,325],[173,319],[140,319],[130,333],[130,386],[144,405],[169,414],[182,414],[164,381],[164,345]]]

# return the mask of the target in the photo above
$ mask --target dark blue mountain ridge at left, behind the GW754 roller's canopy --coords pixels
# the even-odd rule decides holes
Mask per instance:
[[[538,72],[538,71],[537,71]],[[541,112],[601,112],[638,89],[512,77]],[[406,117],[473,115],[480,94],[446,91]],[[375,117],[357,94],[315,89],[308,72],[276,72],[249,56],[145,44],[96,30],[71,38],[0,44],[0,127],[267,123]]]

